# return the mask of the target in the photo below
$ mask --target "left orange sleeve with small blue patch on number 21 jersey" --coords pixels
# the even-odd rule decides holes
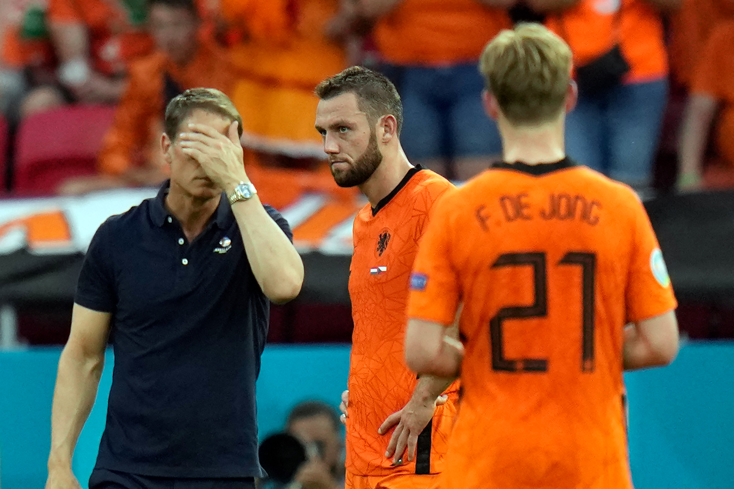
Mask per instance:
[[[436,203],[410,277],[408,317],[453,325],[459,307],[459,275],[451,256],[451,198]]]

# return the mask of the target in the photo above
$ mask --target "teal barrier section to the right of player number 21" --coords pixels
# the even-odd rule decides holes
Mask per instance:
[[[686,344],[625,383],[637,489],[734,488],[734,342]]]

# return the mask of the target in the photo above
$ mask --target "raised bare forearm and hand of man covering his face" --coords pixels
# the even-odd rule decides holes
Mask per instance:
[[[219,188],[231,192],[240,182],[250,182],[244,171],[242,146],[233,122],[222,134],[203,124],[189,124],[179,135],[184,153],[203,167]],[[263,293],[280,304],[294,299],[303,284],[303,262],[285,233],[271,219],[258,195],[232,206],[247,251],[252,273]]]

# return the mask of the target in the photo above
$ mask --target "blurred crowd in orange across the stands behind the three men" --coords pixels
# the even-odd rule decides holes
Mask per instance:
[[[464,180],[501,157],[477,59],[520,21],[573,50],[569,156],[643,194],[666,186],[660,174],[682,190],[734,186],[734,0],[4,0],[0,110],[12,141],[44,113],[115,106],[94,171],[49,189],[78,194],[162,181],[167,101],[215,87],[275,206],[308,190],[351,199],[322,164],[313,87],[362,64],[399,89],[410,161]]]

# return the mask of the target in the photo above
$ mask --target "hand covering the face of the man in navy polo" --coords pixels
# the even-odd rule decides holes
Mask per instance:
[[[239,182],[248,181],[236,121],[226,136],[206,124],[189,124],[181,131],[181,151],[195,159],[219,188],[230,192]]]

